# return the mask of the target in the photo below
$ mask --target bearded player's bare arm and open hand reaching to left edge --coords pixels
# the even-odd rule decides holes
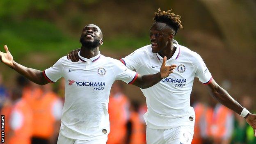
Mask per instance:
[[[5,51],[6,53],[3,53],[0,51],[0,60],[2,63],[9,66],[11,69],[14,69],[15,71],[25,76],[27,79],[31,80],[34,83],[37,83],[39,85],[45,85],[48,83],[48,81],[43,77],[42,71],[39,71],[37,69],[27,68],[15,62],[6,45],[5,45]]]

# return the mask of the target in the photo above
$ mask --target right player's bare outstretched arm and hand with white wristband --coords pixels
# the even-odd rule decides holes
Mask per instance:
[[[210,95],[216,98],[219,101],[219,103],[221,103],[222,105],[225,105],[229,109],[245,117],[245,120],[247,121],[247,123],[249,123],[249,125],[253,128],[254,136],[256,137],[256,131],[255,131],[256,115],[255,114],[251,114],[250,112],[247,115],[243,114],[246,112],[246,109],[242,107],[237,101],[235,101],[235,99],[232,98],[226,90],[220,87],[217,84],[217,82],[215,82],[215,80],[212,80],[212,82],[208,84],[207,89]]]

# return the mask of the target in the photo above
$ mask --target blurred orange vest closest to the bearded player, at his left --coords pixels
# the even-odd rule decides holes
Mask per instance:
[[[57,101],[57,95],[48,92],[32,103],[33,110],[33,137],[48,139],[53,135],[55,118],[52,114],[53,103]]]

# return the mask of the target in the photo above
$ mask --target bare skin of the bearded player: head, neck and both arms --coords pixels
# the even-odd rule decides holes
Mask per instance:
[[[80,55],[85,58],[91,58],[99,53],[99,47],[103,44],[101,29],[93,24],[87,25],[83,28],[81,33],[80,42],[82,43]],[[93,41],[99,40],[99,44],[96,47],[89,47],[85,43],[92,43]],[[84,44],[83,44],[84,43]],[[45,85],[48,81],[43,77],[43,71],[37,69],[27,68],[21,64],[14,61],[11,53],[9,52],[7,46],[5,45],[6,53],[0,51],[0,60],[2,63],[14,69],[21,75],[25,76],[27,79],[39,85]],[[176,65],[166,66],[166,57],[163,60],[162,66],[159,73],[153,75],[138,75],[133,85],[136,85],[142,89],[151,87],[158,83],[162,78],[167,78],[170,73],[173,73]]]

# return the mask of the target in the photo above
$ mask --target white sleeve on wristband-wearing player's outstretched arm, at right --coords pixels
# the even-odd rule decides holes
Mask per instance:
[[[213,77],[208,70],[206,64],[203,62],[203,59],[200,55],[195,53],[195,69],[196,73],[195,76],[202,82],[204,85],[208,85],[212,80]]]

